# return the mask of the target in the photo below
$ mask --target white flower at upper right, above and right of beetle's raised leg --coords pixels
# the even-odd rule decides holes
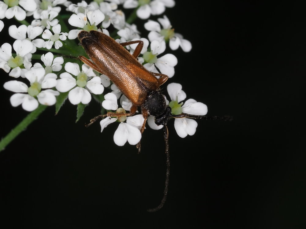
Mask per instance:
[[[160,28],[160,24],[153,20],[148,20],[148,22],[144,24],[144,28],[151,31],[148,35],[150,41],[162,38],[165,39],[165,41],[169,41],[169,46],[172,50],[177,50],[179,46],[184,52],[189,52],[191,50],[191,42],[183,39],[181,34],[174,32],[174,29],[166,15],[157,20],[162,25],[162,29]]]

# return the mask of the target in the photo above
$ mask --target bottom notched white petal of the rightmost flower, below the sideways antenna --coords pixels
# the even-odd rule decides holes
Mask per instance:
[[[197,122],[188,118],[176,118],[174,120],[174,128],[177,135],[185,138],[187,135],[194,135],[196,132]]]

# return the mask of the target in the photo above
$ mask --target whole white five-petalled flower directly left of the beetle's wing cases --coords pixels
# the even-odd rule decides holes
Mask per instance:
[[[66,72],[60,75],[61,79],[58,79],[56,89],[60,92],[70,90],[68,99],[73,105],[79,104],[80,102],[88,104],[91,101],[90,93],[103,93],[104,87],[101,84],[101,79],[99,76],[95,75],[92,68],[83,64],[81,72],[78,64],[68,62],[65,64],[65,70]],[[76,76],[76,79],[68,72]]]

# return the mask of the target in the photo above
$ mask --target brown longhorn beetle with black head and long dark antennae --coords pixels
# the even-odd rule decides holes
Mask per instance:
[[[169,159],[169,144],[168,144],[168,127],[167,122],[170,118],[194,118],[194,119],[219,119],[217,116],[207,117],[189,114],[171,114],[171,108],[166,105],[166,100],[160,92],[160,86],[166,82],[168,76],[149,72],[143,65],[141,65],[137,57],[143,48],[143,42],[129,41],[117,43],[110,36],[95,30],[80,31],[78,34],[80,44],[84,47],[91,62],[84,56],[79,56],[79,59],[101,74],[110,78],[110,80],[121,90],[121,92],[132,102],[132,107],[129,113],[114,113],[108,112],[104,115],[96,116],[90,120],[91,125],[96,120],[111,116],[132,116],[136,113],[137,107],[141,108],[141,113],[144,117],[144,123],[140,129],[141,134],[144,132],[145,124],[148,115],[155,116],[155,124],[163,125],[164,139],[166,144],[166,182],[164,189],[164,196],[159,206],[153,209],[148,209],[149,212],[155,212],[162,208],[166,201],[169,173],[170,173],[170,159]],[[133,54],[130,54],[124,46],[138,43]],[[159,77],[159,78],[157,78]],[[226,117],[221,117],[226,119]],[[140,142],[136,145],[140,153]]]

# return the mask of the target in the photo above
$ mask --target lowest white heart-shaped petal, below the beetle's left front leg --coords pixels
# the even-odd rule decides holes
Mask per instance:
[[[114,142],[118,146],[123,146],[126,141],[128,141],[131,145],[136,145],[140,139],[140,130],[127,123],[120,123],[114,133]]]

